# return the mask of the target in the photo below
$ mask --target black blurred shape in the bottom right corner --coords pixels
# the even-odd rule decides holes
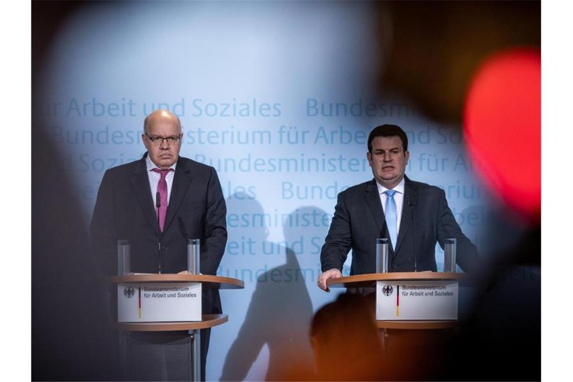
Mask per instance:
[[[541,380],[541,232],[496,255],[474,313],[462,322],[440,380]]]

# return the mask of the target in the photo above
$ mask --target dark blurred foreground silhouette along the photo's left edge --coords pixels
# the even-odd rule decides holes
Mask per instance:
[[[88,223],[50,121],[36,108],[44,58],[78,2],[32,2],[32,380],[115,380],[117,359]]]

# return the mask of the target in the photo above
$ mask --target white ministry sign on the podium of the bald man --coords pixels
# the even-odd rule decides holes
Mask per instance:
[[[201,283],[117,285],[117,322],[201,321]]]

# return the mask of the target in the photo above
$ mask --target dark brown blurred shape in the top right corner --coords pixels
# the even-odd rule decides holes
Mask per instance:
[[[444,123],[461,122],[466,90],[484,57],[507,46],[541,46],[540,1],[379,3],[380,18],[388,10],[392,47],[380,88],[405,94]]]

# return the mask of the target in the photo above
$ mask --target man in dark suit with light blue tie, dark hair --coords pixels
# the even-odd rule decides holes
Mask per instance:
[[[404,173],[410,153],[406,133],[396,125],[381,125],[368,136],[368,163],[374,179],[338,195],[334,217],[320,253],[321,289],[342,277],[352,248],[350,274],[375,273],[376,239],[390,238],[389,270],[436,271],[435,243],[457,239],[457,263],[474,269],[476,246],[462,233],[441,188],[413,182]]]

